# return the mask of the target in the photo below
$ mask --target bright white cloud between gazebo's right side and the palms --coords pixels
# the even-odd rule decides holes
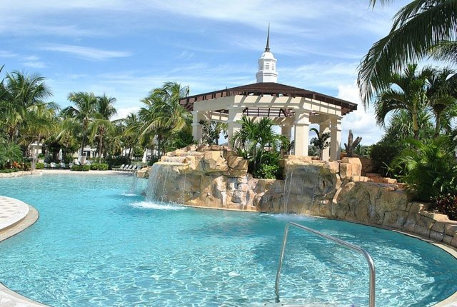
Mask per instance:
[[[358,104],[357,110],[343,117],[341,126],[341,146],[347,143],[349,129],[352,130],[354,139],[361,136],[363,145],[371,145],[381,139],[383,130],[376,125],[376,118],[373,109],[369,108],[365,111],[358,96],[356,84],[346,84],[338,86],[338,98],[352,101]]]

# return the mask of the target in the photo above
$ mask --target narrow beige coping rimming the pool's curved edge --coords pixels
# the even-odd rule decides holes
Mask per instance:
[[[7,197],[7,196],[4,196]],[[11,197],[9,197],[11,198]],[[9,226],[6,226],[5,228],[0,229],[0,243],[8,238],[11,238],[12,236],[15,236],[16,234],[20,233],[21,231],[24,231],[26,228],[29,228],[29,226],[32,226],[36,221],[38,221],[39,218],[39,211],[36,210],[33,206],[30,206],[28,203],[25,203],[24,201],[20,201],[19,199],[16,198],[11,198],[14,201],[17,201],[19,203],[24,203],[27,206],[29,206],[29,212],[24,216],[24,218],[21,218],[19,221],[16,221],[15,223],[12,223]],[[188,206],[191,208],[204,208],[204,209],[219,209],[219,210],[226,210],[226,211],[244,211],[244,212],[257,212],[257,213],[262,213],[261,211],[251,211],[251,210],[237,210],[237,209],[231,209],[231,208],[215,208],[215,207],[202,207],[202,206],[189,206],[189,205],[184,205]],[[310,216],[313,218],[326,218],[323,216]],[[345,221],[337,218],[328,218],[328,219],[333,219],[336,221]],[[438,248],[441,248],[443,251],[446,251],[449,253],[451,256],[457,259],[457,248],[454,248],[453,246],[448,246],[445,243],[442,242],[437,242],[431,240],[431,238],[426,238],[425,236],[420,236],[416,233],[408,233],[407,231],[401,231],[396,228],[391,228],[391,227],[386,227],[386,226],[381,226],[381,225],[373,225],[369,223],[360,223],[356,221],[346,221],[350,223],[358,223],[361,225],[365,226],[372,226],[376,228],[382,228],[390,231],[395,231],[397,233],[404,234],[406,236],[411,236],[413,238],[418,238],[419,240],[426,241],[427,243],[431,243],[433,246],[436,246]],[[6,233],[6,234],[5,234]],[[8,287],[4,286],[3,283],[0,282],[0,298],[2,297],[3,294],[6,294],[6,296],[11,296],[12,298],[16,298],[16,300],[19,300],[19,303],[26,303],[27,307],[48,307],[47,305],[44,305],[43,303],[39,303],[38,301],[31,300],[30,298],[27,298],[26,296],[22,296],[21,294],[12,291]],[[6,297],[8,298],[8,297]],[[451,296],[446,298],[443,301],[440,301],[436,304],[434,304],[432,307],[457,307],[457,291],[453,293]]]

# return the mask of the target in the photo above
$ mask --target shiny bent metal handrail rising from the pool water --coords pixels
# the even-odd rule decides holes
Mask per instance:
[[[370,307],[375,307],[374,306],[374,297],[375,297],[375,278],[376,278],[376,269],[374,267],[374,262],[373,258],[371,258],[370,254],[365,251],[363,248],[360,248],[358,246],[355,246],[351,243],[348,243],[346,241],[343,241],[339,238],[333,238],[333,236],[328,236],[324,233],[321,233],[319,231],[315,231],[314,229],[308,228],[306,226],[300,225],[298,223],[293,223],[293,222],[288,222],[286,224],[286,228],[284,229],[284,238],[283,238],[283,246],[281,248],[281,257],[279,258],[279,266],[278,266],[278,271],[276,272],[276,282],[275,282],[275,293],[276,293],[276,303],[279,303],[279,278],[281,276],[281,268],[283,267],[283,258],[284,258],[284,251],[286,249],[286,242],[287,242],[287,236],[288,236],[288,228],[289,226],[296,226],[297,228],[300,228],[304,231],[308,231],[311,233],[314,233],[316,236],[320,236],[321,238],[326,238],[327,240],[333,241],[337,243],[340,246],[349,248],[353,251],[357,251],[358,253],[361,253],[363,257],[365,257],[366,262],[368,263],[368,268],[370,269]]]

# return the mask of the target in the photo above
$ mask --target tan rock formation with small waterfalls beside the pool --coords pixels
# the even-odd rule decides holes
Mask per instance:
[[[189,146],[167,153],[138,176],[151,177],[146,192],[162,201],[338,218],[457,246],[457,221],[428,213],[425,204],[411,202],[398,184],[367,182],[371,180],[361,176],[359,158],[317,161],[285,156],[280,166],[284,180],[256,179],[247,173],[248,161],[227,147]]]

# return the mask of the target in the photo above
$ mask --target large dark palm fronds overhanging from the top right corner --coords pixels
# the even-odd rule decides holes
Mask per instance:
[[[399,73],[408,62],[423,59],[442,41],[455,41],[456,6],[457,0],[413,0],[398,11],[391,31],[361,61],[357,84],[364,106],[376,93],[388,89],[392,71]]]

